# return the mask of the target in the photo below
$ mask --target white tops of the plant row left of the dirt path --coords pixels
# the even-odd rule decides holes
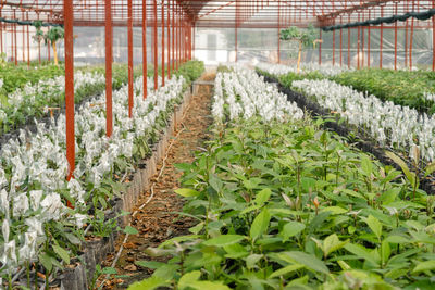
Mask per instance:
[[[84,103],[75,116],[76,169],[75,179],[70,182],[65,180],[63,114],[48,128],[39,124],[37,134],[30,138],[22,131],[17,140],[3,146],[0,157],[0,277],[10,277],[18,267],[40,262],[45,251],[42,245],[50,235],[48,225],[61,223],[66,228],[83,230],[88,220],[85,194],[98,189],[116,160],[132,156],[134,143],[154,129],[157,119],[170,102],[181,98],[184,83],[183,77],[173,77],[165,87],[154,91],[150,79],[148,98],[144,100],[142,78],[139,77],[135,81],[133,118],[128,117],[127,86],[115,91],[111,138],[105,137],[105,94]],[[61,192],[74,199],[74,210],[64,205]],[[57,247],[54,251],[62,256],[65,252],[51,242],[54,244],[50,247]]]

